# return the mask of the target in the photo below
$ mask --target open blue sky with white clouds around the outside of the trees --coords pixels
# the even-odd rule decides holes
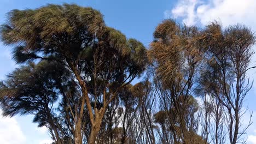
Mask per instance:
[[[187,25],[204,26],[212,20],[222,21],[223,26],[243,23],[256,31],[256,20],[254,10],[255,0],[1,0],[0,1],[0,23],[6,19],[6,13],[12,9],[38,8],[45,4],[75,3],[84,7],[98,9],[104,15],[106,24],[120,30],[128,38],[136,38],[148,47],[153,40],[155,27],[165,18],[176,18]],[[256,57],[252,59],[252,65]],[[0,79],[3,79],[15,67],[11,60],[10,47],[0,43]],[[249,71],[248,76],[256,78],[256,70]],[[255,79],[254,79],[255,80]],[[246,105],[256,115],[256,84],[248,94]],[[245,105],[245,106],[246,106]],[[0,143],[47,143],[50,137],[44,128],[37,128],[32,123],[32,116],[15,116],[13,118],[0,117]],[[245,115],[245,122],[248,114]],[[256,123],[256,116],[253,116]],[[8,127],[7,125],[13,125]],[[248,143],[256,141],[256,124],[248,130]]]

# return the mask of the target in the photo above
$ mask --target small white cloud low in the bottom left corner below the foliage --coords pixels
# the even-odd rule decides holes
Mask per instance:
[[[0,110],[0,143],[4,144],[25,144],[26,137],[13,117],[2,117]]]

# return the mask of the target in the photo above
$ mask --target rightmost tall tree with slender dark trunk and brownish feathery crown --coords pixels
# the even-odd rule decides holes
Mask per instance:
[[[202,84],[225,109],[230,143],[245,143],[243,135],[248,127],[241,127],[246,109],[243,104],[252,87],[246,73],[255,68],[249,67],[254,34],[246,26],[223,28],[218,22],[212,22],[198,40],[205,46],[207,59],[202,73],[206,79]]]

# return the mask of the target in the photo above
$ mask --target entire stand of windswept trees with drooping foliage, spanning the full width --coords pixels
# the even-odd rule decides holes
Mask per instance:
[[[245,26],[164,20],[147,50],[100,11],[49,4],[10,11],[0,34],[20,64],[0,82],[3,115],[33,115],[53,143],[246,142],[255,37]]]

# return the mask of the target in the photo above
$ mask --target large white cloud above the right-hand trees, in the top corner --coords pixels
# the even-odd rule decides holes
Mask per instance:
[[[239,22],[256,29],[255,8],[255,0],[180,0],[165,17],[181,18],[187,25],[221,20],[224,26]]]

